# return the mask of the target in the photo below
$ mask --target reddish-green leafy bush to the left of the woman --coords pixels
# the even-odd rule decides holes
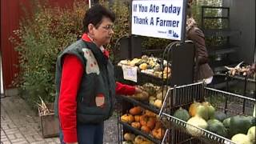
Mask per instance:
[[[54,102],[55,62],[58,53],[82,34],[84,2],[74,2],[73,10],[34,3],[34,14],[23,18],[17,37],[10,38],[19,54],[20,74],[14,85],[26,91],[23,98],[35,102]]]

